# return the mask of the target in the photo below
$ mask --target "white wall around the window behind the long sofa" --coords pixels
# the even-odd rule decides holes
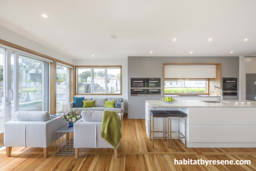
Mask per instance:
[[[84,60],[74,60],[75,66],[122,66],[122,95],[108,95],[107,97],[122,97],[125,101],[125,110],[128,111],[128,61],[127,58],[118,59],[99,59],[95,57],[94,59],[84,59]],[[105,95],[87,95],[87,97],[101,98],[106,97]],[[143,107],[144,108],[144,107]]]

